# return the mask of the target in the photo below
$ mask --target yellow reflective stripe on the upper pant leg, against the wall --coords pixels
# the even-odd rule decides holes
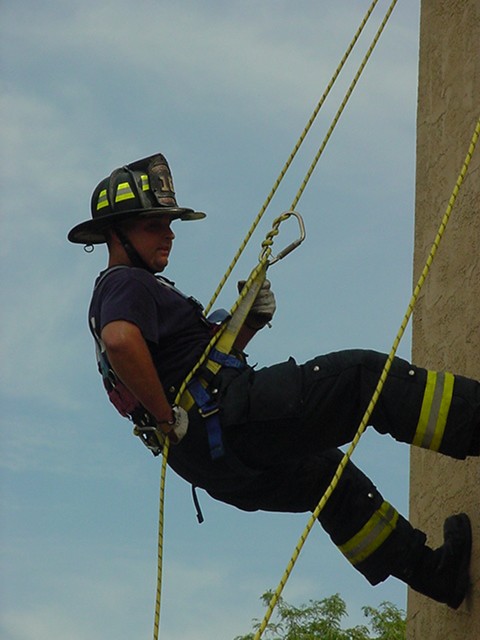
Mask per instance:
[[[429,371],[423,396],[420,419],[413,444],[424,449],[438,451],[447,424],[452,403],[455,376],[451,373]]]

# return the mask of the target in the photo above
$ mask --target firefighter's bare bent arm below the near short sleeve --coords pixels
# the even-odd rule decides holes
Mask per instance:
[[[105,325],[101,337],[117,376],[167,433],[172,407],[140,329],[131,322],[115,320]]]

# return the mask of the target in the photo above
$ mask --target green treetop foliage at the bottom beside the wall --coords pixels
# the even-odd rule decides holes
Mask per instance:
[[[262,596],[265,606],[272,597],[267,591]],[[280,598],[276,606],[276,622],[270,622],[262,640],[405,640],[405,613],[391,602],[382,602],[376,609],[363,607],[367,625],[342,629],[347,606],[337,594],[323,600],[310,600],[295,607]],[[254,632],[237,636],[235,640],[253,640],[260,623],[253,621]],[[372,635],[373,634],[373,635]]]

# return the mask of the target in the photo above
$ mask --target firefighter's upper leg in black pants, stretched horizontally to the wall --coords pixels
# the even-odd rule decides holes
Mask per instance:
[[[345,350],[238,377],[222,398],[232,449],[255,468],[352,440],[387,356]],[[480,453],[480,383],[395,358],[369,423],[400,442],[463,459]]]

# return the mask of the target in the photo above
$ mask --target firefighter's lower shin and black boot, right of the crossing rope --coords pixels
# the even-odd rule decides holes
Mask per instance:
[[[338,451],[327,452],[324,465],[336,467],[340,457]],[[465,514],[447,518],[444,544],[432,550],[426,545],[425,534],[413,528],[349,462],[319,521],[371,584],[392,575],[455,609],[463,602],[469,586],[472,546],[470,521]]]

